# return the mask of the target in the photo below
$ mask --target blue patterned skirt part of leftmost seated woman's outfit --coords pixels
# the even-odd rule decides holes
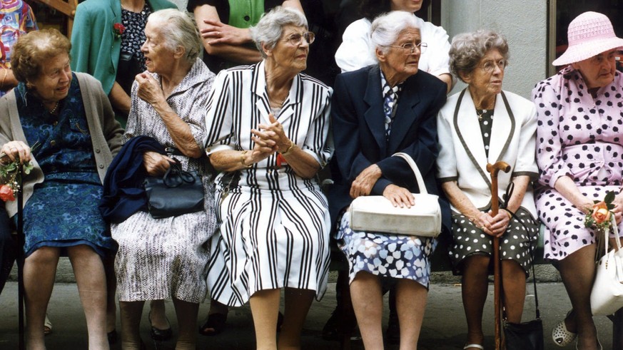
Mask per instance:
[[[97,173],[73,173],[83,177],[71,182],[46,177],[35,186],[24,207],[26,257],[40,247],[88,245],[103,256],[115,250],[106,222],[98,210],[103,193]],[[17,215],[14,215],[17,220]]]

